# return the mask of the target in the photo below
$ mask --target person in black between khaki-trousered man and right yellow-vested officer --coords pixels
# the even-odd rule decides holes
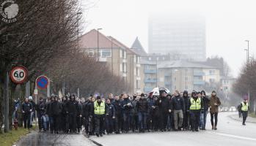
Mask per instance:
[[[184,104],[185,104],[185,111],[183,112],[183,130],[189,130],[190,128],[190,114],[189,114],[189,92],[188,91],[183,91],[183,99],[184,99]]]

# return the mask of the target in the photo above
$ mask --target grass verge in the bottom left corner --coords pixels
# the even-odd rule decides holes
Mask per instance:
[[[33,126],[30,131],[33,131],[35,129],[37,129],[37,127]],[[21,137],[25,136],[26,134],[29,134],[29,131],[23,127],[19,127],[18,130],[15,130],[13,128],[12,131],[9,131],[8,133],[0,134],[0,145],[12,146],[15,142],[17,142],[19,139],[21,139]]]

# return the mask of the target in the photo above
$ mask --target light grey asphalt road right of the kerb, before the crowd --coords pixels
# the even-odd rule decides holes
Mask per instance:
[[[256,123],[246,123],[231,119],[229,116],[237,112],[219,113],[218,130],[212,131],[210,119],[208,118],[206,131],[170,131],[152,132],[145,134],[120,134],[107,135],[104,137],[92,137],[91,139],[103,146],[156,146],[156,145],[178,145],[178,146],[255,146],[256,145]],[[210,117],[208,115],[208,117]]]

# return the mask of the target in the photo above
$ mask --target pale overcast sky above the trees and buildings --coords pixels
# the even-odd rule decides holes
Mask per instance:
[[[83,1],[83,0],[82,0]],[[84,0],[87,1],[87,0]],[[84,2],[83,4],[87,3]],[[95,6],[84,10],[85,32],[103,28],[103,34],[131,47],[139,37],[147,51],[148,18],[153,12],[200,12],[206,18],[206,53],[222,56],[237,76],[250,53],[256,53],[255,0],[89,0]]]

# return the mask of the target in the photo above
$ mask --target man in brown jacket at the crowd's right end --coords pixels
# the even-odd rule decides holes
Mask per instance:
[[[210,107],[210,114],[211,114],[211,126],[212,130],[217,130],[217,123],[218,123],[218,113],[219,113],[219,106],[221,105],[221,101],[219,97],[216,95],[216,91],[211,93],[211,99],[209,101]],[[214,123],[213,123],[214,118]]]

